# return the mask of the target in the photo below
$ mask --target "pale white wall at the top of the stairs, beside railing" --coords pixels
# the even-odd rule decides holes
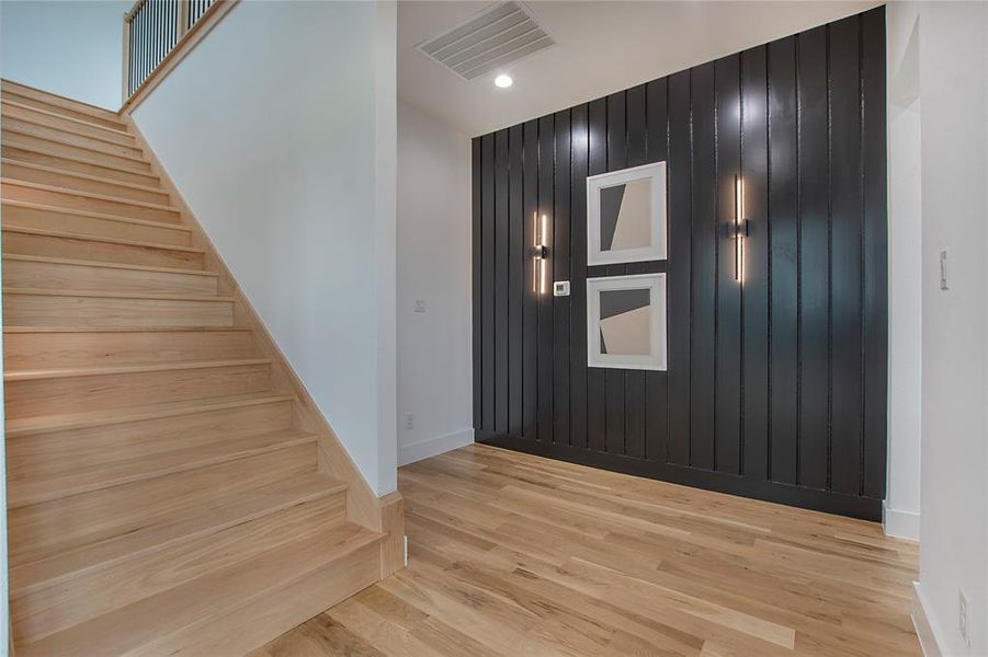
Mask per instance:
[[[0,2],[0,76],[116,111],[133,0]]]

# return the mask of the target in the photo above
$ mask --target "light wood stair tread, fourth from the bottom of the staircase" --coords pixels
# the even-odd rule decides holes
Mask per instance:
[[[111,408],[90,411],[84,413],[66,413],[64,415],[45,415],[41,417],[27,417],[7,420],[8,439],[16,439],[23,436],[44,434],[47,431],[63,431],[86,427],[106,426],[143,419],[160,417],[177,417],[193,413],[207,413],[225,408],[251,406],[255,404],[271,404],[293,400],[293,395],[280,392],[251,392],[208,399],[168,402],[163,404],[149,404],[147,406],[129,406],[126,408]]]

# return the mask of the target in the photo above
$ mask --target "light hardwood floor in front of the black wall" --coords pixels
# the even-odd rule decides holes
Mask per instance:
[[[251,657],[920,654],[874,523],[485,446],[398,482],[408,567]]]

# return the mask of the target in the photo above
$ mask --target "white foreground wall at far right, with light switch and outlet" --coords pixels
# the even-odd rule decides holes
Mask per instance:
[[[988,655],[986,13],[983,3],[889,7],[895,43],[905,43],[905,31],[919,21],[922,515],[917,593],[936,650],[944,655]],[[890,61],[889,70],[899,64]],[[943,249],[949,251],[947,290],[940,288]],[[969,601],[970,647],[958,631],[961,590]]]

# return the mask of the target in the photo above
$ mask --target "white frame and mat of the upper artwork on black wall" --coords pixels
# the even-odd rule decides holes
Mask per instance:
[[[638,249],[601,249],[601,191],[648,181],[651,244]],[[587,264],[613,265],[666,260],[666,162],[654,162],[587,177]]]

